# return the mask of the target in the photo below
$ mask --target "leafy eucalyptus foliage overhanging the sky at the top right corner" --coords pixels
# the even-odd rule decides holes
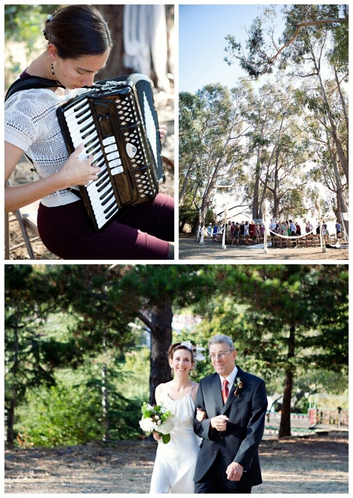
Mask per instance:
[[[227,35],[225,48],[227,64],[231,65],[237,60],[250,77],[257,79],[261,75],[272,73],[276,62],[281,70],[290,63],[303,64],[315,42],[325,43],[327,38],[331,42],[327,50],[330,62],[340,71],[344,73],[348,71],[348,5],[285,5],[283,15],[285,28],[276,43],[271,39],[271,25],[274,19],[272,15],[270,19],[266,19],[268,17],[266,12],[265,15],[257,16],[252,21],[248,31],[249,37],[245,43],[246,51],[242,49],[234,35]],[[326,19],[332,19],[332,22],[316,22]],[[311,24],[300,27],[296,32],[302,23]],[[279,47],[286,44],[288,45],[283,51],[279,52]],[[273,59],[273,53],[276,52],[277,59]]]

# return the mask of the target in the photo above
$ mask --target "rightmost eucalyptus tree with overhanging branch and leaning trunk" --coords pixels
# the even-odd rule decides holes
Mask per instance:
[[[226,62],[232,64],[237,60],[255,79],[270,74],[276,62],[279,70],[290,66],[296,77],[312,79],[317,85],[317,99],[325,107],[329,133],[348,181],[348,150],[335,123],[323,76],[326,57],[335,75],[341,112],[348,129],[347,101],[342,91],[342,81],[348,81],[348,5],[285,5],[283,13],[285,28],[277,43],[263,17],[256,17],[251,25],[247,51],[243,51],[233,35],[228,35]],[[271,22],[273,24],[273,19]]]

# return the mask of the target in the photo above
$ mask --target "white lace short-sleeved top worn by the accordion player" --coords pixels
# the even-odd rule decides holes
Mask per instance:
[[[34,163],[39,178],[60,171],[69,154],[56,117],[56,109],[87,90],[68,90],[60,96],[52,90],[39,88],[16,92],[5,102],[5,140],[22,149]],[[34,173],[35,179],[38,175]],[[75,194],[59,190],[44,197],[47,207],[77,201]]]

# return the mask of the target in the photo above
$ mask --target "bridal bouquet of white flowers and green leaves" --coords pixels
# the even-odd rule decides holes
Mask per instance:
[[[163,406],[163,403],[156,406],[151,406],[144,401],[141,406],[142,418],[139,421],[141,429],[146,433],[146,436],[152,432],[158,432],[164,444],[170,441],[170,432],[174,428],[172,418],[174,415]]]

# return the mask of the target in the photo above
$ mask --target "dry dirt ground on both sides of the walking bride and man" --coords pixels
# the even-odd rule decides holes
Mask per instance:
[[[148,493],[156,444],[5,451],[5,493]],[[256,493],[348,493],[348,433],[264,440]]]

